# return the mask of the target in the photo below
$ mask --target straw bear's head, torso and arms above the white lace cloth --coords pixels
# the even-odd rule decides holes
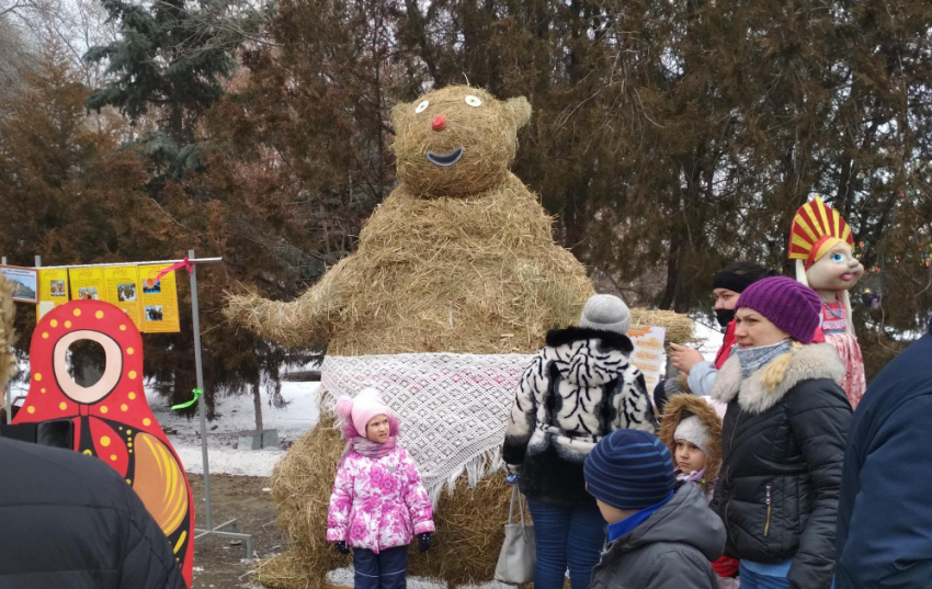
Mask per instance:
[[[292,303],[234,296],[227,317],[328,354],[531,353],[573,324],[592,283],[509,171],[524,98],[452,86],[391,112],[398,186],[359,249]]]

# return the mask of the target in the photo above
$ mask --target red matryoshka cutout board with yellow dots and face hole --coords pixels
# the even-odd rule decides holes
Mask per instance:
[[[98,342],[106,354],[100,381],[84,387],[68,375],[68,347]],[[30,392],[14,423],[68,419],[75,450],[120,473],[169,540],[185,582],[194,565],[194,501],[181,461],[143,389],[143,337],[120,308],[71,301],[48,312],[30,347]]]

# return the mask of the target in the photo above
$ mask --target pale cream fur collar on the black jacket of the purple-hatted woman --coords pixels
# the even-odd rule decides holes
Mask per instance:
[[[804,346],[788,362],[782,361],[783,358],[774,359],[745,378],[738,358],[732,355],[718,371],[715,386],[712,387],[712,397],[730,403],[737,395],[738,405],[742,409],[759,415],[776,405],[791,388],[803,381],[830,378],[838,383],[844,377],[844,364],[829,343]]]

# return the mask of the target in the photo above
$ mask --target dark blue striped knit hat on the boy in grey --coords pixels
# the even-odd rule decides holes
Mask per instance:
[[[644,509],[673,492],[673,458],[652,433],[613,431],[583,465],[589,494],[617,509]]]

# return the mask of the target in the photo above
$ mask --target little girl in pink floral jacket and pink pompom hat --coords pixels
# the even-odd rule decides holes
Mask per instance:
[[[408,544],[417,535],[424,552],[434,531],[418,465],[395,443],[398,419],[378,390],[340,397],[337,415],[348,442],[330,496],[327,541],[343,554],[353,548],[355,589],[404,589]]]

